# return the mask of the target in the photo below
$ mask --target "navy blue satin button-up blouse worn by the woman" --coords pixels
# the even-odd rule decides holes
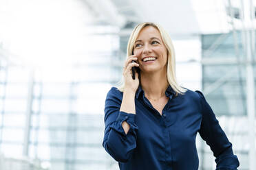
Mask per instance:
[[[135,96],[136,114],[120,111],[122,94],[116,87],[107,93],[103,139],[103,147],[121,170],[198,170],[198,132],[216,157],[216,170],[235,170],[239,166],[232,144],[199,90],[188,89],[184,95],[175,96],[169,86],[165,92],[169,101],[162,116],[141,86]],[[127,134],[122,121],[130,125]]]

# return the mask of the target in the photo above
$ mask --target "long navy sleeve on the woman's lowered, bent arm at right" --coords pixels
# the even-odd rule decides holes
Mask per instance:
[[[215,156],[216,170],[237,170],[239,160],[233,154],[232,143],[228,141],[226,134],[220,127],[211,106],[207,103],[204,95],[199,90],[201,103],[202,122],[199,130],[200,136],[211,147]]]

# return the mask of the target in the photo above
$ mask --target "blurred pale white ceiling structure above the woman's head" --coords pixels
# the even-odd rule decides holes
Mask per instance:
[[[125,32],[139,22],[160,23],[174,36],[216,34],[231,30],[228,5],[239,10],[239,1],[228,0],[81,0],[95,17],[95,23],[116,25]],[[237,20],[237,19],[235,19]]]

